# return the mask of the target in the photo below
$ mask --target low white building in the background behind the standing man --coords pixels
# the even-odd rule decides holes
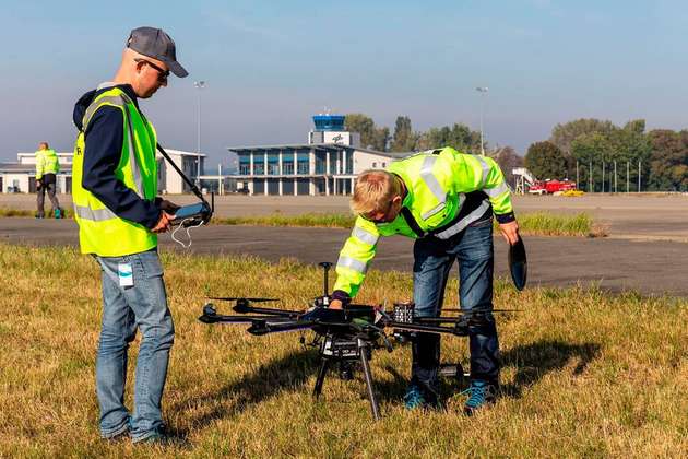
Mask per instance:
[[[191,179],[197,179],[197,161],[200,169],[205,163],[204,154],[183,152],[180,150],[165,150],[175,164]],[[60,172],[57,174],[58,193],[72,192],[72,156],[73,153],[58,153]],[[17,153],[16,163],[0,163],[0,192],[36,192],[36,155],[35,153]],[[190,187],[167,161],[157,153],[157,189],[165,193],[189,192]]]

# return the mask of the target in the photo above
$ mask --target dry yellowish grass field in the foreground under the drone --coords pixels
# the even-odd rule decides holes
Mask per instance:
[[[462,387],[446,381],[442,412],[400,403],[410,350],[377,351],[383,420],[365,386],[329,378],[310,397],[313,350],[297,334],[251,337],[197,321],[205,294],[283,298],[300,308],[320,272],[286,259],[163,255],[176,343],[164,398],[170,446],[98,438],[94,361],[99,272],[69,248],[0,244],[0,457],[686,457],[688,305],[598,290],[496,285],[503,397],[460,414]],[[455,304],[456,285],[447,304]],[[408,299],[411,280],[370,273],[358,299]],[[222,306],[218,305],[220,310]],[[228,306],[227,306],[228,309]],[[225,309],[225,310],[227,310]],[[464,340],[443,360],[466,362]],[[135,355],[137,345],[131,350]],[[133,380],[130,363],[129,385]],[[131,405],[131,389],[127,403]]]

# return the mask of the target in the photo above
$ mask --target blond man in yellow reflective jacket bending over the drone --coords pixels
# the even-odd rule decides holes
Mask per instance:
[[[493,308],[493,213],[505,238],[518,242],[518,224],[503,175],[494,160],[451,148],[418,153],[387,170],[358,176],[351,202],[359,216],[340,252],[331,307],[354,297],[380,236],[415,238],[414,302],[417,317],[438,316],[454,259],[463,309],[479,309],[471,326],[471,396],[466,414],[494,402],[499,388],[499,343]],[[438,404],[439,336],[417,333],[408,409]]]

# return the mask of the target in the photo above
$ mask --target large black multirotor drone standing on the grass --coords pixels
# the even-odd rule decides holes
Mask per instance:
[[[319,266],[323,270],[322,295],[316,297],[306,310],[254,306],[258,303],[276,302],[278,298],[214,296],[209,299],[235,302],[232,308],[235,314],[217,314],[214,304],[206,303],[199,320],[209,325],[248,325],[246,331],[259,337],[312,330],[315,339],[310,344],[318,348],[320,354],[320,369],[316,378],[313,398],[318,399],[320,396],[328,370],[333,364],[340,364],[342,379],[353,379],[353,368],[359,364],[363,368],[372,417],[376,421],[380,419],[380,409],[373,390],[369,361],[372,358],[373,350],[387,349],[388,352],[392,352],[393,345],[389,330],[392,338],[400,342],[407,341],[413,333],[417,332],[467,337],[468,328],[485,323],[488,314],[514,310],[444,309],[444,311],[459,313],[459,315],[414,317],[413,303],[395,303],[391,311],[384,310],[381,306],[363,304],[345,304],[342,309],[331,309],[329,308],[331,296],[328,279],[332,263],[321,262]],[[303,336],[301,343],[306,343]],[[461,364],[444,365],[441,373],[446,376],[470,376],[464,373]]]

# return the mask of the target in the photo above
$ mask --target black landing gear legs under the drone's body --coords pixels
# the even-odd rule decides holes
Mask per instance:
[[[372,419],[378,421],[380,419],[380,408],[378,400],[372,389],[372,374],[370,373],[370,363],[368,362],[372,356],[372,350],[370,343],[360,339],[340,339],[328,334],[320,346],[320,370],[318,372],[318,378],[316,379],[316,387],[313,388],[313,397],[318,398],[322,392],[322,384],[328,375],[330,364],[333,362],[340,362],[345,367],[351,368],[351,364],[359,361],[364,373],[364,379],[366,380],[366,390],[368,392],[368,400],[370,401],[370,411],[372,412]]]

